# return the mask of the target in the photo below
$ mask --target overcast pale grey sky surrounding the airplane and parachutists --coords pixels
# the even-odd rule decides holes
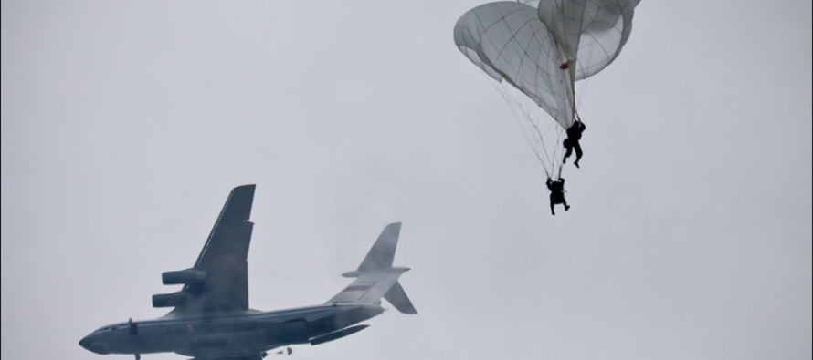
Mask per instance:
[[[454,46],[480,4],[4,0],[2,357],[100,358],[79,338],[164,314],[257,183],[261,310],[326,301],[404,222],[419,314],[301,359],[809,359],[810,2],[643,0],[579,87],[555,217]]]

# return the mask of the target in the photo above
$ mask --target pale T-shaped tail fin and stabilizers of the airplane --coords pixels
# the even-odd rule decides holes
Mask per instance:
[[[387,225],[364,261],[357,270],[343,273],[344,277],[356,278],[344,290],[337,293],[327,303],[380,303],[384,297],[386,301],[404,314],[417,314],[415,306],[409,301],[404,288],[398,283],[401,274],[409,268],[393,267],[393,258],[396,255],[398,235],[401,232],[401,223],[395,222]]]

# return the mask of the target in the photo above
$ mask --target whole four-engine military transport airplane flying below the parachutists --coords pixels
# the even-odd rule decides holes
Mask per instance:
[[[384,312],[384,297],[398,311],[417,314],[398,283],[408,268],[393,267],[401,223],[387,225],[357,270],[353,283],[321,305],[261,312],[248,307],[248,221],[255,185],[231,190],[195,266],[162,273],[177,293],[153,295],[153,307],[174,307],[163,317],[111,324],[79,345],[97,354],[169,353],[195,360],[259,360],[281,346],[320,345],[363,330],[358,324]],[[290,347],[285,349],[290,355]],[[283,353],[280,351],[280,353]]]

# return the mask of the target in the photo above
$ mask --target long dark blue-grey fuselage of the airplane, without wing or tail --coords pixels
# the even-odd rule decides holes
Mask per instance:
[[[366,327],[384,309],[377,304],[323,304],[272,312],[186,317],[167,314],[154,320],[104,326],[79,345],[97,354],[173,352],[186,356],[241,356],[295,344],[331,341]],[[340,331],[344,329],[344,333]],[[336,333],[339,332],[339,333]]]

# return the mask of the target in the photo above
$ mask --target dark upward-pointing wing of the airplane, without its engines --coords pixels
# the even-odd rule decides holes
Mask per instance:
[[[171,314],[203,315],[248,310],[246,260],[254,227],[248,218],[255,188],[256,185],[251,184],[231,190],[192,268],[205,273],[206,280],[186,283],[182,290],[185,302],[176,305]]]

